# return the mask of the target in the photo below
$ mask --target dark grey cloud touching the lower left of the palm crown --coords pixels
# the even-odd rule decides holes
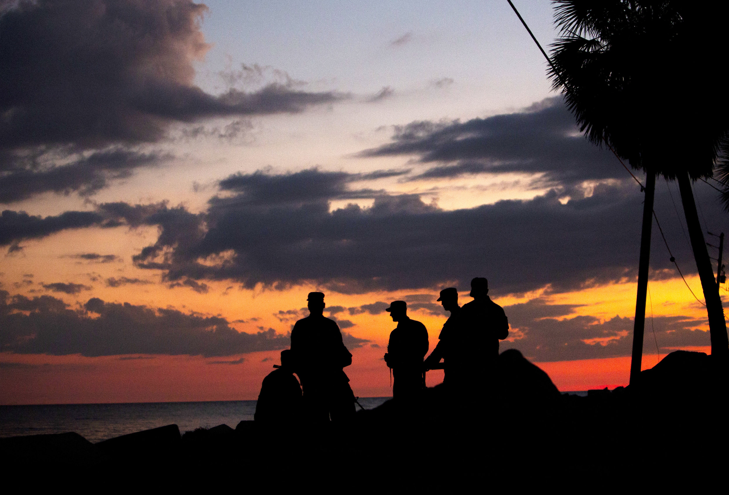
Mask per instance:
[[[544,174],[541,185],[569,185],[624,174],[610,152],[579,133],[574,117],[558,97],[521,113],[398,125],[389,144],[359,154],[396,155],[413,156],[418,163],[430,165],[412,180],[515,172]]]

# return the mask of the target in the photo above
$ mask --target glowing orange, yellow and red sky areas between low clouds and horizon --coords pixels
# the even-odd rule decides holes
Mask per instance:
[[[130,231],[126,227],[113,229],[69,230],[52,235],[49,240],[28,241],[25,249],[17,255],[12,264],[4,267],[5,280],[23,280],[26,273],[34,274],[28,284],[17,284],[4,289],[11,295],[28,297],[52,295],[77,308],[91,297],[116,303],[147,305],[152,308],[176,308],[184,313],[195,311],[203,315],[219,315],[227,319],[239,332],[255,333],[273,328],[285,335],[295,319],[279,319],[278,311],[305,308],[306,295],[311,290],[321,289],[314,285],[290,287],[275,290],[257,287],[241,289],[240,284],[226,281],[204,281],[207,293],[193,292],[187,287],[168,287],[161,283],[160,273],[155,270],[141,270],[130,263],[132,254],[152,243],[157,236],[156,229],[144,228]],[[104,252],[119,257],[109,263],[79,262],[68,255],[78,252],[78,246],[88,251]],[[110,249],[109,246],[113,246]],[[47,260],[54,260],[48,263]],[[38,269],[43,267],[42,272]],[[487,274],[488,275],[488,274]],[[125,276],[148,280],[149,284],[109,287],[106,278]],[[74,282],[93,287],[77,295],[49,292],[40,282]],[[687,283],[697,295],[701,295],[698,276],[687,277]],[[461,287],[464,289],[464,287]],[[680,278],[650,282],[652,306],[647,307],[647,324],[651,313],[654,316],[687,316],[706,321],[706,309],[687,291]],[[335,314],[340,320],[349,320],[351,327],[343,332],[355,338],[366,339],[362,347],[352,351],[353,365],[346,369],[351,385],[360,397],[386,397],[391,395],[389,370],[382,361],[389,333],[396,326],[388,313],[350,314],[347,308],[358,307],[376,301],[391,302],[407,299],[418,294],[432,303],[437,298],[437,288],[413,289],[397,292],[370,292],[367,294],[343,295],[327,292],[327,307],[342,306],[344,311]],[[461,290],[461,304],[469,302],[467,291]],[[499,287],[492,287],[494,300],[503,305],[526,303],[540,298],[547,304],[576,305],[574,312],[559,319],[574,316],[594,316],[606,320],[619,315],[633,317],[635,311],[636,284],[609,284],[590,287],[561,294],[551,293],[547,288],[523,295],[499,295]],[[722,292],[724,294],[724,292]],[[439,310],[440,311],[440,310]],[[429,332],[430,349],[437,344],[440,329],[446,319],[445,312],[433,315],[428,311],[410,311],[413,319],[422,321]],[[508,316],[508,312],[507,312]],[[708,324],[695,327],[708,330]],[[511,335],[518,338],[520,332],[512,328]],[[594,345],[601,345],[599,339]],[[691,348],[709,352],[709,335],[706,348]],[[502,345],[502,349],[504,346]],[[200,356],[141,356],[144,359],[127,359],[130,356],[82,357],[20,355],[0,353],[4,363],[0,380],[0,403],[69,403],[69,402],[160,402],[255,399],[260,383],[278,362],[278,351],[257,352],[226,356],[223,358],[202,358]],[[214,361],[235,361],[237,365],[211,365]],[[264,361],[264,359],[268,359]],[[658,356],[644,356],[643,365],[651,367]],[[581,361],[539,362],[559,389],[586,390],[625,385],[628,381],[630,357],[610,359],[585,359]],[[443,379],[442,371],[429,372],[429,386]]]

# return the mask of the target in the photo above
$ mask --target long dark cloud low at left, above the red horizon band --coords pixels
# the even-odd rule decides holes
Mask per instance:
[[[20,354],[189,354],[234,356],[289,347],[273,329],[237,332],[225,318],[105,303],[94,297],[70,309],[55,297],[10,297],[0,291],[0,348]]]

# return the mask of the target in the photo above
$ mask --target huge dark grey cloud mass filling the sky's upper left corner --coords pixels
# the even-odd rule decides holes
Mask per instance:
[[[93,194],[158,163],[159,155],[128,147],[159,141],[171,122],[297,113],[347,97],[301,90],[290,78],[205,93],[193,85],[193,63],[209,48],[200,31],[206,10],[191,0],[0,9],[0,203],[44,191]],[[233,139],[244,128],[238,119],[219,135]]]

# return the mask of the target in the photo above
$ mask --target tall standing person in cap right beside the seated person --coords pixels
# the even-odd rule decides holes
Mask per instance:
[[[324,294],[309,292],[309,316],[291,331],[291,351],[304,391],[305,414],[310,421],[341,421],[354,416],[354,394],[343,367],[352,355],[342,342],[335,321],[322,314]]]

